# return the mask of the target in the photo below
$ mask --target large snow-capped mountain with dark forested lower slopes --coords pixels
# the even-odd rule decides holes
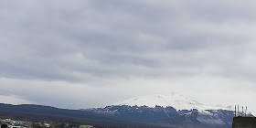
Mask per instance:
[[[155,125],[157,128],[230,128],[235,116],[231,107],[205,105],[175,92],[132,98],[86,111],[131,123]]]

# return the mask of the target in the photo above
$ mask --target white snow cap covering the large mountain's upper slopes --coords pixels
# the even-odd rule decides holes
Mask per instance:
[[[203,110],[228,110],[228,108],[220,107],[220,106],[210,106],[204,105],[195,101],[191,98],[187,98],[178,93],[170,93],[167,95],[149,95],[143,96],[139,98],[132,98],[126,101],[117,102],[114,105],[129,105],[129,106],[148,106],[148,107],[155,107],[158,106],[172,106],[176,110],[191,110],[197,109],[198,111]]]

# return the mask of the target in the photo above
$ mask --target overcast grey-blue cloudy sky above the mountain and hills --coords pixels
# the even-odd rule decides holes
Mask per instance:
[[[255,5],[1,1],[0,100],[81,109],[178,91],[255,108]]]

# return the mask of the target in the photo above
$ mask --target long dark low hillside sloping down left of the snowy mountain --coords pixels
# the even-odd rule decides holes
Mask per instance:
[[[95,112],[58,109],[54,107],[33,104],[11,105],[0,103],[0,116],[2,118],[28,120],[33,122],[55,121],[62,123],[102,125],[112,128],[154,128],[154,126],[148,126],[144,123],[133,123],[125,120],[119,120],[109,115],[103,115]]]

